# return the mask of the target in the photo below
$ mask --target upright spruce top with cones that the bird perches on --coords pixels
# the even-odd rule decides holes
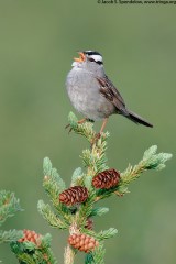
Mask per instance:
[[[100,200],[112,195],[122,196],[129,193],[129,184],[150,169],[163,169],[166,161],[172,157],[168,153],[156,153],[157,146],[145,151],[142,161],[136,165],[129,165],[119,173],[107,165],[107,140],[109,133],[97,136],[94,123],[78,122],[76,116],[68,116],[70,131],[80,134],[90,143],[90,147],[82,151],[84,168],[76,168],[73,173],[70,187],[66,188],[57,170],[52,167],[50,158],[44,160],[44,189],[48,195],[56,213],[43,200],[38,201],[38,211],[50,226],[68,230],[68,244],[65,249],[64,263],[74,264],[79,251],[86,253],[86,264],[105,264],[103,242],[113,238],[118,230],[109,228],[96,232],[92,228],[92,218],[103,216],[109,211],[105,207],[95,207]]]

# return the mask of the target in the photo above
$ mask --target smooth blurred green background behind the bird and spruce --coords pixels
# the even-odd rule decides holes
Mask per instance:
[[[154,129],[111,117],[107,129],[109,166],[123,170],[152,144],[175,153],[176,15],[175,6],[98,4],[96,0],[0,2],[0,187],[12,190],[22,208],[3,229],[51,232],[59,263],[67,233],[52,230],[37,213],[43,157],[50,156],[67,185],[81,166],[87,142],[65,131],[74,110],[65,78],[78,50],[103,54],[106,72],[130,109]],[[78,114],[80,118],[81,116]],[[96,129],[100,123],[96,124]],[[106,263],[176,263],[175,157],[166,169],[144,174],[131,194],[101,205],[110,212],[96,220],[96,230],[114,227],[107,241]],[[18,263],[8,244],[3,263]],[[82,263],[84,256],[76,263]]]

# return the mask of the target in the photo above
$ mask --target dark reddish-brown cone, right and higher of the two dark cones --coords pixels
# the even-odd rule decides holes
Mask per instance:
[[[120,174],[114,168],[106,169],[92,178],[92,186],[97,189],[110,189],[119,184]]]

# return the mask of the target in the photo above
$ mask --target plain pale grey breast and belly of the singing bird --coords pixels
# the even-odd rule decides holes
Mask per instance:
[[[114,106],[99,92],[94,73],[74,67],[67,76],[66,88],[73,106],[84,117],[98,120],[114,112]]]

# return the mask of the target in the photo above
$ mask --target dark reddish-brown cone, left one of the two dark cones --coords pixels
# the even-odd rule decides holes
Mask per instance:
[[[74,186],[59,194],[59,201],[73,206],[77,202],[84,202],[88,198],[88,190],[82,186]]]

